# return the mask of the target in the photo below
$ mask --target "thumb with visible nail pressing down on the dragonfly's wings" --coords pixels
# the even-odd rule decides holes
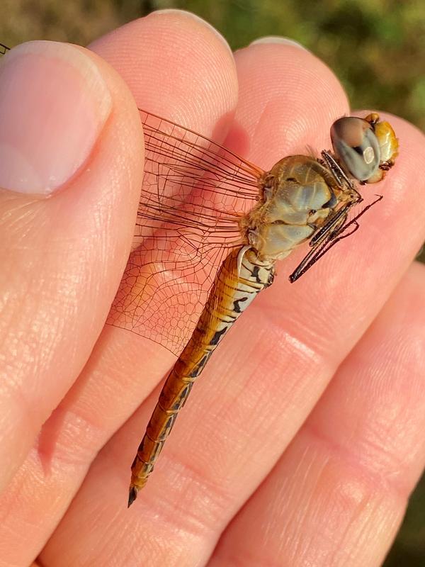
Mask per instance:
[[[4,488],[103,326],[130,246],[143,141],[130,92],[96,55],[33,42],[0,73]]]

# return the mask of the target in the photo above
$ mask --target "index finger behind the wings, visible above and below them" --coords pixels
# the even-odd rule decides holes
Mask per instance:
[[[185,13],[152,15],[117,30],[94,47],[102,56],[113,54],[113,64],[121,74],[128,73],[126,79],[146,78],[133,86],[142,107],[147,106],[146,92],[152,89],[157,104],[152,110],[180,116],[188,125],[193,120],[209,134],[216,133],[217,123],[224,128],[221,119],[234,110],[237,82],[232,54],[225,41],[198,18]],[[175,100],[171,88],[162,98],[165,77],[174,84]],[[196,103],[190,107],[187,101],[192,94]],[[77,383],[45,423],[39,446],[30,452],[0,500],[4,511],[0,548],[6,550],[7,565],[28,565],[38,554],[91,460],[173,360],[168,352],[154,359],[133,333],[113,327],[104,330]],[[123,472],[128,474],[128,464]],[[26,525],[26,546],[22,546],[22,525]]]

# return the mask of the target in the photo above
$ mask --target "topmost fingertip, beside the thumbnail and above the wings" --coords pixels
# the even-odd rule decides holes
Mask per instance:
[[[118,70],[137,105],[205,135],[237,104],[234,58],[222,36],[191,13],[156,11],[90,45]]]

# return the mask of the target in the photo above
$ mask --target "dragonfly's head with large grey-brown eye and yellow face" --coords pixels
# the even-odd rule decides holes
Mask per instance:
[[[377,113],[339,118],[331,126],[331,140],[341,166],[363,183],[380,181],[398,154],[394,130]]]

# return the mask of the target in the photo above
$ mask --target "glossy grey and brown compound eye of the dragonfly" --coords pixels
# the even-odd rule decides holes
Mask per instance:
[[[373,127],[363,118],[346,116],[331,127],[332,146],[341,165],[358,181],[367,181],[378,170],[380,146]]]

